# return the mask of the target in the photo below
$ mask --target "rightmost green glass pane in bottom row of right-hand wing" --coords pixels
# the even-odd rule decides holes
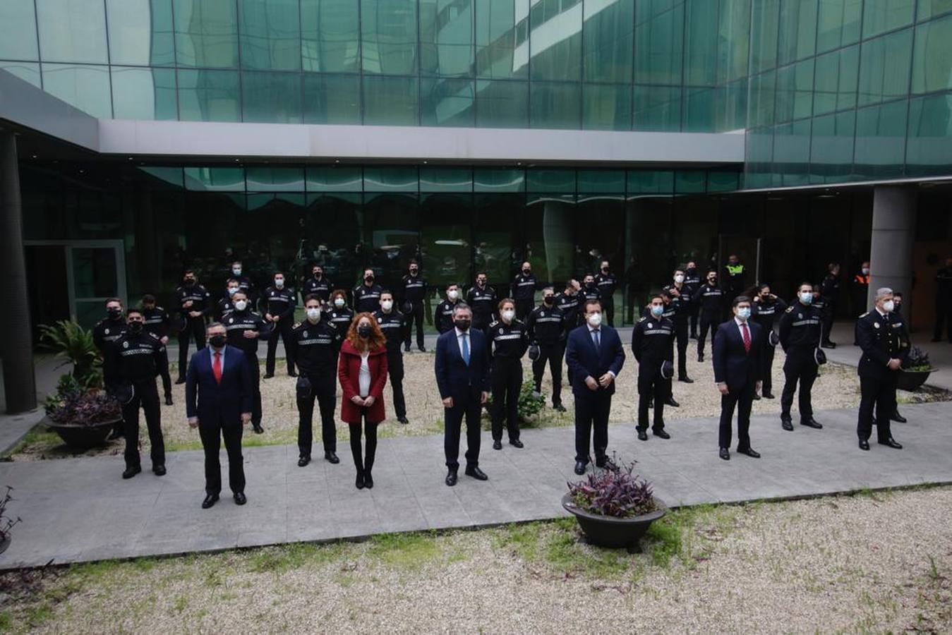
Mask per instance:
[[[952,92],[909,102],[905,166],[909,175],[952,172]]]

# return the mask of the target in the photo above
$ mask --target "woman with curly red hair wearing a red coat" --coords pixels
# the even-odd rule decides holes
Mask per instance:
[[[347,329],[337,363],[344,390],[341,420],[350,427],[350,451],[357,467],[357,488],[373,486],[373,457],[377,452],[377,424],[384,413],[387,385],[387,339],[371,313],[358,313]],[[367,434],[367,457],[361,459],[361,423]]]

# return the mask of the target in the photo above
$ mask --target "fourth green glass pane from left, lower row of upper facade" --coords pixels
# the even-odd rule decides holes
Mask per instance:
[[[179,119],[241,121],[238,73],[232,70],[178,69]]]

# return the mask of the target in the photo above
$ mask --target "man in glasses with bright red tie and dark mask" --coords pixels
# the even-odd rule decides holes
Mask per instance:
[[[206,329],[208,347],[191,356],[185,385],[188,425],[197,427],[205,448],[205,500],[208,509],[222,491],[218,450],[222,438],[228,452],[228,486],[237,505],[245,505],[245,465],[241,455],[242,426],[251,421],[254,385],[245,353],[226,346],[225,326]]]

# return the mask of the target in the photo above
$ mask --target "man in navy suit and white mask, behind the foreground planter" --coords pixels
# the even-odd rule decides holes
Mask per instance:
[[[585,324],[573,329],[565,343],[568,381],[575,396],[575,473],[585,474],[589,441],[595,445],[595,465],[608,457],[608,415],[615,378],[625,365],[625,347],[618,331],[602,324],[602,303],[585,302]],[[595,428],[594,437],[592,427]]]

